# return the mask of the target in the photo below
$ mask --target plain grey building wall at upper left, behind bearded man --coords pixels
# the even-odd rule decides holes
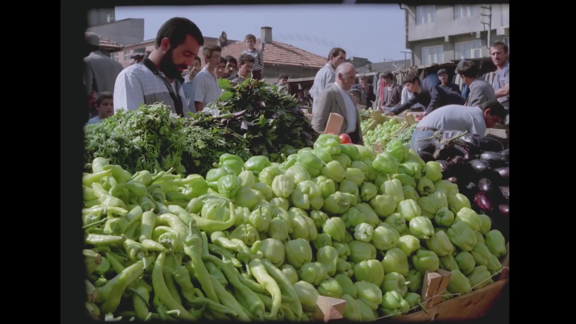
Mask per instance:
[[[144,20],[141,18],[129,18],[89,27],[86,31],[96,33],[122,45],[134,44],[144,40]]]

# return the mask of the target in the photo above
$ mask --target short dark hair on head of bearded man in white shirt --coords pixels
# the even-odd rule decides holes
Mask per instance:
[[[187,18],[170,18],[158,29],[154,47],[160,47],[162,39],[168,38],[170,40],[170,47],[176,48],[184,43],[187,35],[194,37],[200,46],[204,44],[204,36],[202,36],[202,32],[194,22]]]

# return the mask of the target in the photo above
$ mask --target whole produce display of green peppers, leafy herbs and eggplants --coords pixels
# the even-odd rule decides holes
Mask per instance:
[[[495,170],[508,155],[469,146],[472,165],[452,151],[423,159],[395,138],[354,145],[317,134],[292,97],[259,82],[226,89],[186,122],[158,105],[86,128],[89,314],[248,322],[485,312],[509,269],[507,209],[487,200],[499,191],[507,201],[507,173]],[[493,171],[490,190],[454,183]]]

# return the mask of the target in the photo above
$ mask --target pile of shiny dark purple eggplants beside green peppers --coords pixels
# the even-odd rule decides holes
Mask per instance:
[[[416,146],[422,160],[437,161],[444,179],[456,183],[472,209],[490,216],[507,239],[510,149],[494,138],[467,131],[435,131]]]

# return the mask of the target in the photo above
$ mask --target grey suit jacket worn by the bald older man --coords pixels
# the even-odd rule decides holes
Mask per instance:
[[[316,103],[316,111],[314,111],[314,115],[312,116],[312,128],[316,131],[324,131],[331,112],[335,112],[344,117],[344,122],[340,128],[340,134],[346,133],[346,130],[348,129],[346,104],[344,103],[344,98],[340,94],[338,86],[335,84],[332,84],[328,89],[324,89],[324,91],[320,93]],[[360,129],[361,119],[358,110],[356,111],[356,114],[356,130],[350,134],[350,138],[354,144],[362,145],[362,130]]]

